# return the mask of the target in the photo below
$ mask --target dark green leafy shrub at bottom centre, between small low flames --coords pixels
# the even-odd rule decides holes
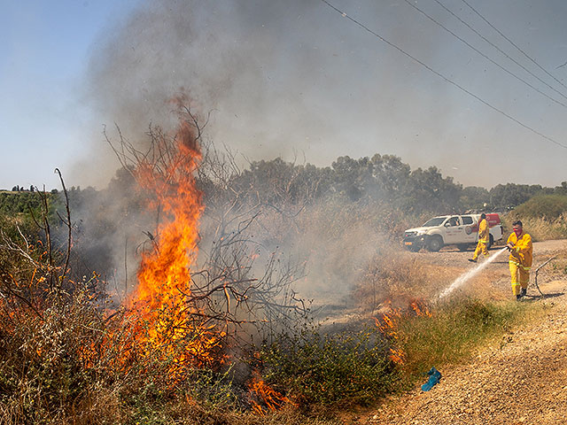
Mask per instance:
[[[369,404],[396,380],[377,327],[322,335],[317,328],[283,333],[260,354],[263,377],[299,406]]]

